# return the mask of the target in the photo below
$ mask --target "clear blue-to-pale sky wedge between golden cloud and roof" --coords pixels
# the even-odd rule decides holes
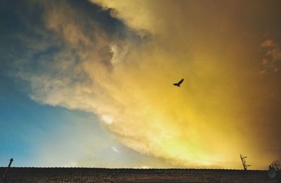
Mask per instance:
[[[3,72],[0,82],[1,166],[12,157],[13,166],[23,167],[141,168],[159,161],[117,142],[94,114],[35,102]]]

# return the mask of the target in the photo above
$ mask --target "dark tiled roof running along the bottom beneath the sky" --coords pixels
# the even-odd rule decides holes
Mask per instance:
[[[6,168],[0,168],[2,176]],[[11,168],[8,183],[20,182],[276,182],[266,170]]]

